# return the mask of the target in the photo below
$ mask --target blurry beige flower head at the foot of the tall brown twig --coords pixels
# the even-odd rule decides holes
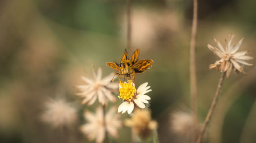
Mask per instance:
[[[195,137],[200,132],[200,124],[192,113],[177,111],[171,118],[171,129],[182,137]]]

